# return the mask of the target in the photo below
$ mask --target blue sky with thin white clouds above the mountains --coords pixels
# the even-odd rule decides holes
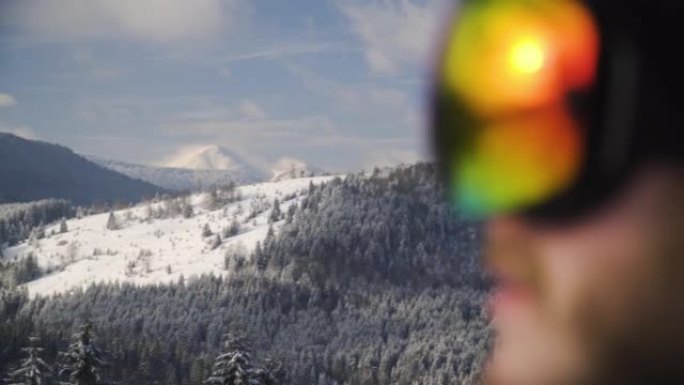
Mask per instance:
[[[426,156],[448,0],[0,0],[0,131],[163,164]]]

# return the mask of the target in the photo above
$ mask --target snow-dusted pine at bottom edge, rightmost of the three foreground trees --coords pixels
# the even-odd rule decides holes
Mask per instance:
[[[224,338],[226,352],[216,357],[211,376],[204,383],[210,385],[263,385],[252,367],[252,357],[245,339],[233,334],[225,335]]]

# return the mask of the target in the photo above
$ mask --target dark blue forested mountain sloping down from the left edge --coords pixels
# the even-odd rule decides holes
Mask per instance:
[[[0,133],[0,203],[44,198],[134,202],[165,190],[101,167],[66,147]]]

